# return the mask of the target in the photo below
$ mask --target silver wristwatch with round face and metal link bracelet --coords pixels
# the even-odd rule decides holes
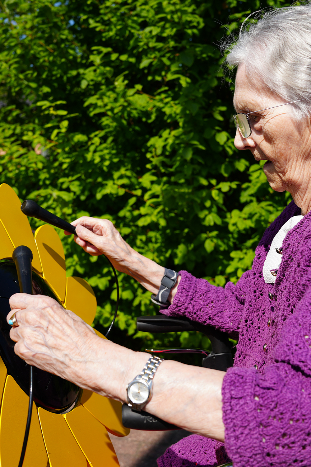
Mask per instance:
[[[127,386],[127,402],[129,407],[142,410],[152,396],[152,378],[164,358],[152,355],[144,369]]]

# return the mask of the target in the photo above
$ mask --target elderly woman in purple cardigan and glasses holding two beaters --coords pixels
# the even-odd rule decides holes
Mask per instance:
[[[240,34],[227,62],[237,66],[235,146],[266,160],[270,186],[289,191],[293,201],[236,285],[222,289],[180,271],[163,312],[238,337],[235,366],[224,373],[153,362],[148,399],[145,389],[128,394],[127,385],[150,355],[98,338],[49,297],[12,296],[17,325],[10,336],[28,364],[124,403],[133,404],[132,396],[138,408],[195,433],[169,448],[160,467],[229,459],[235,467],[310,466],[311,4],[265,14]],[[73,224],[86,252],[104,253],[157,294],[165,269],[133,250],[111,222],[83,217]]]

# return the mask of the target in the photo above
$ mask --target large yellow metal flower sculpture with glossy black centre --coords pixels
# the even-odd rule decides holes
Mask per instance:
[[[7,184],[1,184],[0,260],[11,259],[14,248],[20,245],[26,245],[33,253],[34,277],[37,277],[39,282],[41,281],[43,287],[55,294],[64,308],[73,311],[86,323],[91,324],[96,312],[96,297],[90,285],[83,279],[66,278],[62,242],[55,229],[49,225],[43,225],[36,230],[34,236],[27,217],[21,212],[21,202],[14,190]],[[8,269],[12,269],[13,266],[10,262],[1,262],[0,265]],[[0,304],[4,303],[3,300],[7,300],[8,305],[9,297],[5,294],[10,293],[2,289],[0,284]],[[5,355],[1,348],[5,346],[8,348],[10,345],[11,348],[13,347],[12,341],[10,343],[6,337],[5,325],[3,320],[0,321],[1,335],[4,336],[1,339],[6,339],[5,344],[2,345],[2,341],[0,342],[1,357]],[[97,334],[105,339],[102,334],[98,332]],[[29,401],[28,395],[21,389],[18,365],[25,366],[26,364],[20,359],[17,367],[16,365],[14,367],[14,363],[10,367],[9,364],[5,365],[4,360],[6,357],[0,358],[0,394],[2,395],[0,467],[17,467]],[[57,381],[64,385],[71,384],[61,378],[57,380],[56,376],[53,378],[56,378],[54,382],[56,389]],[[48,384],[50,384],[49,381],[46,389],[48,389]],[[67,410],[62,410],[61,407],[58,409],[53,404],[48,407],[46,403],[40,403],[34,398],[23,467],[116,467],[119,465],[108,432],[117,436],[129,434],[129,430],[122,425],[121,403],[79,388],[76,388],[74,394],[76,394],[74,396],[76,399]],[[69,395],[65,397],[65,400],[69,404],[68,397]]]

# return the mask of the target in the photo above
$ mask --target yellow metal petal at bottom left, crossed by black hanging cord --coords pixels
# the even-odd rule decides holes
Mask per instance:
[[[18,466],[24,440],[29,397],[21,390],[12,376],[7,376],[0,415],[0,465]],[[33,404],[28,444],[23,467],[47,467],[39,418]]]

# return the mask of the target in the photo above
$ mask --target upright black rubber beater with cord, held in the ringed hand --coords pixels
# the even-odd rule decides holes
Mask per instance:
[[[16,266],[17,270],[17,277],[18,283],[20,286],[20,290],[22,293],[28,293],[29,295],[33,295],[33,288],[32,288],[32,269],[31,269],[31,262],[33,259],[33,254],[30,248],[21,245],[14,249],[12,255],[13,261]],[[32,405],[34,400],[33,394],[33,367],[30,365],[29,367],[29,405],[28,405],[28,416],[27,416],[27,423],[26,423],[26,430],[24,435],[23,446],[21,448],[21,457],[18,467],[22,467],[27,443],[28,443],[28,436],[30,430],[30,423],[31,423],[31,414],[32,414]]]

